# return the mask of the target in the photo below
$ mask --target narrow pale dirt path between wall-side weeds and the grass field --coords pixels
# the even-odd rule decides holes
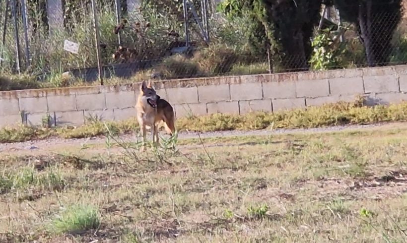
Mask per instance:
[[[371,129],[391,129],[391,128],[407,128],[407,123],[377,123],[368,125],[343,125],[331,126],[321,128],[304,128],[304,129],[265,129],[265,130],[251,130],[251,131],[214,131],[214,132],[180,132],[179,139],[193,139],[193,138],[212,138],[212,137],[232,137],[232,136],[264,136],[276,134],[294,134],[294,133],[319,133],[319,132],[335,132],[335,131],[351,131],[351,130],[371,130]],[[126,134],[119,137],[123,141],[136,141],[140,139],[136,134]],[[151,139],[151,136],[148,137]],[[87,147],[101,147],[106,143],[106,138],[103,136],[92,138],[79,138],[79,139],[63,139],[52,138],[45,140],[32,140],[18,143],[1,143],[1,154],[36,154],[37,151],[57,151],[57,150],[78,150],[82,146]]]

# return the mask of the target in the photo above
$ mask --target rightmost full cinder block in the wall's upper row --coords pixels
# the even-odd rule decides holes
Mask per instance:
[[[364,76],[365,93],[399,92],[399,80],[396,75]]]

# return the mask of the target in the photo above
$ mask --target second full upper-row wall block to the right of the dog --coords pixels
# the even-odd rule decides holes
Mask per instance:
[[[216,102],[230,100],[229,84],[198,86],[200,102]]]

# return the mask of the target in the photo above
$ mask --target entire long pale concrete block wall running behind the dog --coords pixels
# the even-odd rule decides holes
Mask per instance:
[[[213,113],[276,112],[368,97],[369,104],[407,100],[407,65],[165,80],[157,93],[176,117]],[[139,83],[0,92],[0,126],[81,125],[87,118],[121,121],[136,116]]]

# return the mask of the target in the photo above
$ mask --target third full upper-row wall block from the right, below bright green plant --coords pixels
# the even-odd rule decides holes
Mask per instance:
[[[297,97],[323,97],[329,95],[328,79],[298,80],[295,83]]]

